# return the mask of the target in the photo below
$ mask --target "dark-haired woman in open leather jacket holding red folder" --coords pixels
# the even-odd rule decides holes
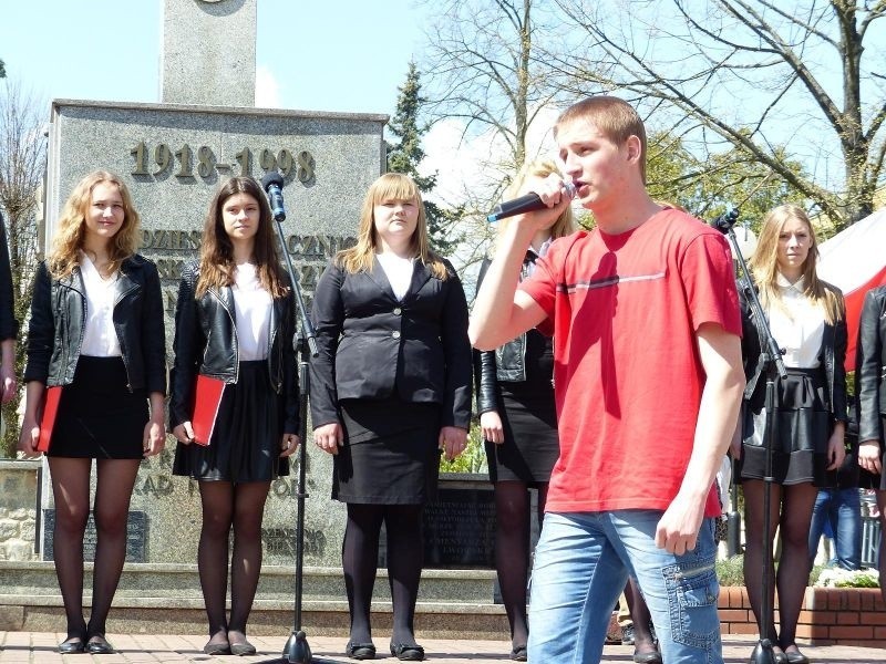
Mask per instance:
[[[209,619],[207,654],[247,655],[261,570],[261,517],[271,480],[298,447],[295,297],[280,267],[259,185],[235,177],[209,205],[199,262],[182,271],[175,311],[169,423],[173,473],[196,479],[203,505],[197,552]],[[194,443],[197,375],[225,383],[208,445]],[[225,612],[234,529],[230,618]]]

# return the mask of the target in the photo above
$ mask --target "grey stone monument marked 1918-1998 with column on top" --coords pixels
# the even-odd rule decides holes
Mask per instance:
[[[142,216],[142,252],[159,270],[169,353],[181,268],[197,256],[220,183],[240,174],[260,179],[274,169],[284,176],[286,250],[310,299],[329,257],[353,241],[363,195],[383,169],[387,115],[251,107],[255,15],[256,0],[164,0],[163,103],[52,103],[47,238],[80,178],[97,168],[122,176]],[[167,449],[142,464],[131,507],[132,562],[196,562],[199,496],[196,483],[171,474],[175,444],[169,436]],[[337,567],[343,509],[329,498],[330,458],[313,445],[308,450],[306,564]],[[267,564],[293,561],[292,465],[271,486]],[[52,491],[45,486],[41,494],[45,526]],[[51,530],[40,530],[47,559]]]

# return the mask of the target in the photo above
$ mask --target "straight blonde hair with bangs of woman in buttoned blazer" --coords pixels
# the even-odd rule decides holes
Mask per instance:
[[[402,173],[385,173],[369,187],[360,211],[360,226],[357,230],[357,245],[336,255],[336,264],[351,274],[371,272],[379,247],[375,232],[375,206],[384,200],[409,200],[419,208],[419,222],[412,234],[410,250],[413,258],[421,260],[440,280],[449,277],[443,259],[431,250],[427,240],[427,219],[419,187],[413,179]]]

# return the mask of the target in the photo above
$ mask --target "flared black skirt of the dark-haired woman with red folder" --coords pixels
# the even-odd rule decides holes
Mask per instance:
[[[209,445],[178,443],[173,475],[234,483],[289,475],[289,459],[280,457],[286,409],[267,361],[240,362],[238,374],[225,385]]]

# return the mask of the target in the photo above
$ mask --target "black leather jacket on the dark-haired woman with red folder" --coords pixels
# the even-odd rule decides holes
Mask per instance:
[[[175,360],[169,374],[169,428],[192,418],[198,373],[229,384],[237,382],[239,350],[234,293],[229,287],[210,289],[196,299],[197,278],[196,261],[182,269],[175,307]],[[269,387],[285,397],[284,432],[288,434],[299,430],[295,311],[290,289],[286,297],[274,299],[268,328]]]

